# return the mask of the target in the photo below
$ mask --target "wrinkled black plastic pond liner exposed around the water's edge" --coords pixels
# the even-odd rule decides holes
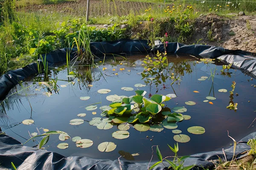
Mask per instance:
[[[102,54],[120,54],[120,53],[142,53],[149,54],[152,51],[164,52],[164,45],[159,41],[156,42],[156,47],[152,50],[148,46],[146,40],[128,40],[121,39],[116,41],[106,42],[91,42],[91,52],[96,55]],[[46,57],[48,66],[52,66],[58,62],[65,62],[67,58],[67,51],[70,52],[70,59],[76,57],[76,49],[62,48],[48,54],[42,55],[42,62]],[[256,54],[242,50],[228,50],[222,47],[215,47],[211,45],[184,45],[178,42],[170,42],[166,47],[166,52],[171,54],[186,54],[195,57],[220,59],[222,62],[232,64],[235,69],[241,70],[244,74],[256,78]],[[0,99],[9,93],[20,81],[31,75],[38,74],[37,63],[29,64],[23,68],[8,73],[0,77]],[[244,137],[236,146],[236,158],[246,156],[244,151],[250,150],[247,145],[248,139],[253,139],[256,132]],[[233,147],[225,150],[227,160],[233,158]],[[211,169],[214,164],[210,160],[218,159],[218,156],[224,158],[223,151],[214,151],[208,153],[199,153],[192,155],[184,161],[184,166],[196,164],[193,170],[201,169],[201,167]],[[1,134],[0,132],[0,167],[11,168],[11,162],[18,167],[19,170],[30,169],[44,169],[44,170],[120,170],[119,160],[98,160],[90,159],[82,156],[64,157],[58,153],[48,152],[46,150],[38,150],[36,148],[23,146],[20,142],[10,136]],[[122,170],[145,170],[148,167],[146,163],[134,163],[130,161],[120,161]],[[155,162],[151,162],[150,166]],[[166,163],[167,165],[167,163]],[[163,165],[155,167],[155,170],[163,169]],[[167,169],[167,168],[166,168]]]

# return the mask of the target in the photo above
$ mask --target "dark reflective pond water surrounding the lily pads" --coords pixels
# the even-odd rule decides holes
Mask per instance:
[[[44,133],[44,128],[64,131],[71,138],[80,136],[81,139],[93,141],[91,147],[80,148],[76,147],[75,142],[67,139],[65,142],[69,144],[69,147],[59,149],[57,145],[64,141],[60,141],[58,135],[51,135],[49,142],[44,147],[64,156],[87,156],[95,159],[114,160],[120,156],[119,151],[124,150],[131,154],[139,153],[138,156],[134,156],[134,161],[149,161],[152,152],[151,146],[153,145],[159,145],[163,156],[173,156],[174,154],[167,145],[173,147],[176,143],[173,137],[177,134],[172,133],[172,129],[164,127],[161,132],[151,130],[140,132],[131,126],[127,130],[129,137],[121,140],[115,139],[111,135],[118,130],[117,125],[113,125],[108,130],[100,130],[96,126],[89,125],[88,122],[92,118],[102,117],[102,111],[99,108],[111,103],[106,99],[107,96],[114,94],[132,96],[135,95],[134,91],[139,89],[147,92],[144,97],[148,99],[154,94],[176,94],[177,97],[163,102],[164,107],[166,107],[165,111],[183,106],[187,109],[182,114],[191,116],[191,119],[177,122],[176,129],[181,130],[181,134],[188,135],[190,141],[179,143],[179,156],[230,147],[233,141],[227,136],[227,130],[229,130],[230,136],[237,141],[255,131],[254,123],[250,126],[256,117],[256,103],[253,100],[256,95],[255,80],[251,80],[241,71],[232,68],[229,70],[230,74],[221,74],[222,64],[219,61],[206,63],[190,56],[169,56],[168,66],[156,67],[152,70],[150,64],[143,62],[144,59],[145,56],[131,56],[127,60],[116,57],[115,59],[105,59],[103,66],[102,59],[96,62],[99,68],[93,68],[91,74],[88,73],[86,67],[74,65],[71,70],[82,75],[76,78],[67,77],[69,73],[67,68],[51,69],[49,77],[58,78],[57,85],[59,86],[58,93],[55,94],[52,91],[52,95],[46,93],[47,88],[42,88],[46,87],[45,85],[40,86],[36,82],[37,78],[30,77],[23,81],[23,87],[17,85],[10,92],[13,95],[3,102],[0,126],[5,133],[22,143],[30,138],[29,133],[38,133],[38,131]],[[147,58],[145,62],[150,63],[150,60]],[[124,69],[120,70],[120,68]],[[212,74],[215,72],[213,83],[211,71]],[[144,73],[144,79],[140,73]],[[91,75],[93,80],[86,79],[85,77],[89,77],[88,75]],[[199,81],[198,79],[201,77],[208,78]],[[177,81],[171,85],[175,79]],[[229,91],[232,90],[233,81],[236,82],[233,96],[233,101],[238,103],[236,112],[226,108],[230,102]],[[138,83],[145,85],[145,87],[134,87]],[[122,87],[129,87],[128,90],[130,88],[134,90],[125,91],[121,89]],[[22,90],[24,88],[26,90]],[[97,92],[99,89],[109,89],[111,92],[99,94]],[[227,89],[227,92],[221,93],[218,91],[219,89]],[[90,96],[90,99],[81,100],[80,97],[83,96]],[[214,96],[216,99],[203,102],[207,100],[207,96]],[[188,101],[193,101],[196,104],[186,105],[185,102]],[[213,105],[209,102],[212,102]],[[87,111],[85,107],[90,104],[96,105],[96,110]],[[32,113],[30,105],[33,110]],[[79,113],[86,113],[86,116],[78,117],[77,114]],[[25,119],[33,119],[34,124],[24,125],[20,123]],[[80,125],[70,125],[72,119],[84,119],[86,121]],[[163,122],[163,119],[160,122]],[[10,126],[14,127],[8,128]],[[205,133],[200,135],[189,133],[187,128],[192,126],[204,127]],[[37,140],[41,141],[40,138]],[[25,145],[35,146],[38,141],[31,140]],[[114,142],[116,149],[112,152],[100,152],[98,145],[102,142]],[[154,156],[153,159],[156,160],[157,156]]]

